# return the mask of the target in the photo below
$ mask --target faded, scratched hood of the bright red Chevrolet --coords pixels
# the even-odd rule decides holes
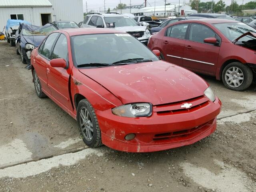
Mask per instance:
[[[177,102],[201,96],[208,87],[196,74],[163,61],[79,70],[123,104]]]

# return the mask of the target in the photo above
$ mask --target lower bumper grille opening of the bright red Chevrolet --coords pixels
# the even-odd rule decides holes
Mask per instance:
[[[209,122],[206,122],[200,126],[187,129],[187,130],[156,134],[154,135],[153,140],[164,140],[164,139],[175,139],[175,138],[186,139],[186,137],[190,136],[191,134],[194,134],[196,131],[201,132],[201,130],[204,129],[206,125],[211,124],[212,122],[213,120],[210,120]]]

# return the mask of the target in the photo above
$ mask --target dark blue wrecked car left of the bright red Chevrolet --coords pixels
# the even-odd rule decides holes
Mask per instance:
[[[16,53],[21,56],[22,63],[30,66],[31,51],[38,47],[44,38],[52,31],[58,28],[52,24],[46,24],[42,27],[21,23],[16,31]]]

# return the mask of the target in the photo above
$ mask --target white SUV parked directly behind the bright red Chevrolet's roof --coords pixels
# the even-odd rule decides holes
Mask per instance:
[[[81,27],[114,28],[131,34],[145,45],[148,44],[150,37],[146,26],[140,26],[134,19],[118,13],[90,13],[84,18]]]

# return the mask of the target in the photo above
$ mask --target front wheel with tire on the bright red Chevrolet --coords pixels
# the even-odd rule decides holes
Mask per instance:
[[[101,132],[94,108],[87,99],[78,103],[76,116],[84,143],[92,148],[102,145]]]

